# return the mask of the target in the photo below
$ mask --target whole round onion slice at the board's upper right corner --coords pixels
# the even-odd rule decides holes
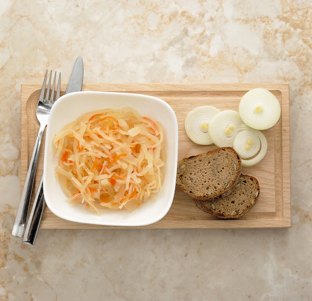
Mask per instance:
[[[280,119],[281,104],[270,91],[256,88],[242,97],[238,111],[248,126],[264,130],[274,126]]]

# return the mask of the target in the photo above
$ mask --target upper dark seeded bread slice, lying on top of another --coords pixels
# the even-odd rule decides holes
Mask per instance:
[[[242,164],[232,147],[183,158],[178,162],[176,183],[196,200],[230,194],[239,180]]]

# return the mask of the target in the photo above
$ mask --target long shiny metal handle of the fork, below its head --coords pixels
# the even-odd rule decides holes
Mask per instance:
[[[44,129],[45,125],[40,124],[12,229],[12,235],[16,237],[22,237],[24,233]]]

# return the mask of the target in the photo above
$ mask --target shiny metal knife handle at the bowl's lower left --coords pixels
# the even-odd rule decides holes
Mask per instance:
[[[23,236],[23,242],[28,245],[33,245],[35,243],[44,206],[43,177],[41,177]]]

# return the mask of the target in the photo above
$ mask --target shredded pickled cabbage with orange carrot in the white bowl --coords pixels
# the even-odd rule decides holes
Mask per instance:
[[[85,113],[53,144],[56,177],[73,204],[131,212],[161,189],[163,129],[133,108]]]

